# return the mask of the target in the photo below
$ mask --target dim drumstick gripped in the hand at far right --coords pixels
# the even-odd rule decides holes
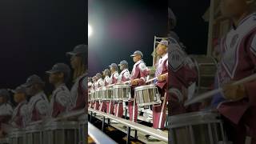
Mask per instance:
[[[250,81],[252,81],[254,79],[256,79],[256,74],[252,74],[252,75],[250,75],[250,76],[248,76],[246,78],[242,78],[242,79],[232,83],[232,85],[234,85],[234,86],[235,85],[241,85],[243,83],[250,82]],[[204,100],[206,98],[211,98],[211,97],[214,96],[214,94],[218,94],[220,92],[222,92],[222,88],[218,88],[218,89],[215,89],[215,90],[210,90],[209,92],[206,92],[204,94],[198,95],[195,98],[192,98],[192,99],[186,101],[184,103],[184,106],[189,106],[189,105],[194,104],[196,102],[201,102],[202,100]]]

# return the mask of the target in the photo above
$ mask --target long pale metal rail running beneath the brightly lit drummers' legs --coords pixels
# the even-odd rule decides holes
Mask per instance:
[[[88,110],[91,111],[91,112],[94,112],[96,114],[100,114],[103,117],[113,119],[114,121],[120,122],[125,126],[134,128],[135,130],[141,131],[145,134],[150,134],[150,135],[154,136],[155,138],[159,138],[162,141],[168,142],[168,134],[166,134],[162,131],[155,130],[154,128],[151,128],[151,127],[148,127],[148,126],[143,126],[143,125],[135,123],[135,122],[130,122],[129,120],[126,120],[126,119],[123,119],[123,118],[118,118],[118,117],[115,117],[114,115],[106,114],[106,113],[103,113],[101,111],[94,110],[94,109],[91,109],[91,108],[88,108]]]

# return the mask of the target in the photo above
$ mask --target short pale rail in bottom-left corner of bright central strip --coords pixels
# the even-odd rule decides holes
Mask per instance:
[[[104,134],[101,130],[98,130],[97,127],[88,122],[88,134],[91,138],[93,138],[95,143],[108,143],[108,144],[116,144],[113,139]]]

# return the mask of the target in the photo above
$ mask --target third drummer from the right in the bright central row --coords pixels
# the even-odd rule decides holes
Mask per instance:
[[[123,60],[119,63],[120,70],[122,71],[118,76],[118,83],[126,82],[130,80],[130,72],[128,70],[128,62]],[[123,107],[122,107],[122,101],[117,102],[114,105],[114,114],[116,117],[122,118],[123,115]]]

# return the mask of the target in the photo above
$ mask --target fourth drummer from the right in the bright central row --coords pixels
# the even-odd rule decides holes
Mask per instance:
[[[118,65],[116,63],[112,63],[110,65],[110,85],[118,82]],[[108,114],[114,114],[114,102],[106,102],[106,110]]]

